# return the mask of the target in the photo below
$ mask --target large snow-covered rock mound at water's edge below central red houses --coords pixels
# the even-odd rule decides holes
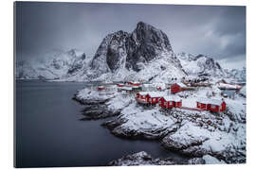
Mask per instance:
[[[161,114],[154,108],[145,110],[133,101],[121,110],[118,117],[107,121],[103,126],[121,137],[159,139],[179,127],[178,120]]]

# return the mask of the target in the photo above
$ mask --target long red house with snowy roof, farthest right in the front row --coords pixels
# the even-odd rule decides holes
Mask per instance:
[[[196,108],[210,110],[212,112],[220,112],[226,110],[226,102],[223,100],[200,98],[196,101]]]

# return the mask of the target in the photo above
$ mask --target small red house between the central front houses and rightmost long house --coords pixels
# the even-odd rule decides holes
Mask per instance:
[[[180,97],[175,95],[163,96],[160,98],[161,108],[172,109],[172,108],[181,108],[182,100]]]

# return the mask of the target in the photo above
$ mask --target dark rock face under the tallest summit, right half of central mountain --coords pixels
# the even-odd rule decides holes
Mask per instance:
[[[128,40],[128,56],[126,68],[139,71],[137,62],[155,59],[161,51],[172,51],[168,37],[154,26],[139,22]]]

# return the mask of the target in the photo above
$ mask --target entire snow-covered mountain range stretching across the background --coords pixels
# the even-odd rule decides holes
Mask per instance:
[[[119,30],[108,34],[93,58],[79,50],[55,50],[44,60],[16,64],[16,78],[60,79],[63,81],[145,80],[168,82],[173,77],[214,76],[246,80],[243,71],[223,69],[205,55],[174,54],[167,35],[143,22],[131,33]]]

